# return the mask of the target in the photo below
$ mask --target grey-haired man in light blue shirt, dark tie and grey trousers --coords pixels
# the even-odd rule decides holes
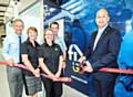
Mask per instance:
[[[7,66],[7,76],[11,97],[22,97],[23,78],[20,68],[13,67],[13,64],[21,63],[20,44],[22,42],[23,21],[16,19],[13,21],[14,33],[8,35],[3,41],[3,56],[10,66]]]

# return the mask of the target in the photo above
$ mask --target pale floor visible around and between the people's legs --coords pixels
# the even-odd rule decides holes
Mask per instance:
[[[0,48],[0,61],[3,61],[3,57],[1,55],[1,48]],[[6,74],[6,66],[0,65],[0,97],[10,97],[9,88],[8,88],[8,82],[7,82],[7,74]],[[23,97],[27,97],[23,91]],[[44,91],[39,93],[39,97],[45,97]],[[75,89],[63,85],[63,95],[62,97],[88,97],[80,91],[76,91]]]

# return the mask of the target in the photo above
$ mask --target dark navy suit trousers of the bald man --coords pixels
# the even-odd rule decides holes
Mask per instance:
[[[103,80],[94,78],[94,87],[96,97],[113,97],[115,78],[112,80]]]

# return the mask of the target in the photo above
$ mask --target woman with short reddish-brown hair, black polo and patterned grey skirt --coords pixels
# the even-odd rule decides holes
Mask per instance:
[[[35,41],[38,31],[34,26],[30,26],[27,31],[28,40],[21,46],[22,62],[30,71],[23,71],[25,94],[28,97],[38,97],[38,91],[42,89],[39,61],[38,61],[38,47],[39,44]]]

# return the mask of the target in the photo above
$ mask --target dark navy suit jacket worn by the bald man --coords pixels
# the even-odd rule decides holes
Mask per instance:
[[[108,25],[93,51],[96,33],[98,31],[92,33],[90,45],[85,52],[85,56],[89,58],[94,69],[92,75],[99,79],[113,79],[114,74],[99,72],[99,69],[102,67],[117,67],[116,58],[121,46],[121,34],[117,30]]]

